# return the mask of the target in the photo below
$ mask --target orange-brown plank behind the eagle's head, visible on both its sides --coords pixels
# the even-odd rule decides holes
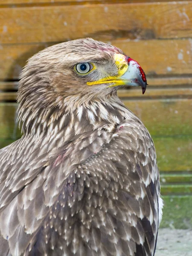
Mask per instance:
[[[128,41],[113,40],[105,41],[119,47],[131,58],[137,60],[147,75],[153,76],[188,76],[192,74],[192,47],[191,39],[178,40],[148,40]],[[53,43],[52,43],[53,44]],[[18,79],[22,67],[29,57],[51,44],[24,44],[24,45],[1,45],[0,46],[0,80]],[[143,51],[143,49],[145,49]],[[182,59],[181,59],[182,58]],[[188,84],[191,77],[183,78]],[[166,78],[165,83],[175,83],[175,80]],[[158,82],[157,84],[162,84]],[[183,83],[181,81],[181,83]],[[150,83],[149,83],[150,84]]]

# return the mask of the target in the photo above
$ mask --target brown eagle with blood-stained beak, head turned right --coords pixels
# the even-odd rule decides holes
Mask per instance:
[[[27,62],[22,137],[0,150],[0,256],[154,256],[163,201],[153,140],[118,98],[146,76],[91,38]]]

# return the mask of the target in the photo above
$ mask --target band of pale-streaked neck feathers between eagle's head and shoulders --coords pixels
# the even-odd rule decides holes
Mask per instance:
[[[18,109],[18,120],[22,123],[23,134],[54,135],[65,131],[64,140],[69,140],[78,134],[93,131],[106,124],[118,125],[131,113],[121,100],[113,95],[105,100],[89,102],[64,102],[64,108],[28,108]]]

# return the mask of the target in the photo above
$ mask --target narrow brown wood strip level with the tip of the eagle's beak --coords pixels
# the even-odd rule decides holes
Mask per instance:
[[[8,86],[12,83],[8,83]],[[12,87],[13,88],[13,87]],[[192,87],[191,88],[153,88],[149,87],[145,91],[145,94],[142,94],[141,88],[132,88],[118,90],[117,94],[122,99],[164,99],[164,98],[188,98],[192,99]],[[0,101],[13,101],[17,99],[17,93],[15,92],[0,92]]]

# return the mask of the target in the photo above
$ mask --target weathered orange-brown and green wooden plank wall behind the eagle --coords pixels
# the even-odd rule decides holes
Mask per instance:
[[[191,0],[1,0],[0,148],[20,137],[15,99],[26,60],[82,37],[121,48],[145,70],[144,96],[140,89],[121,90],[119,96],[156,145],[166,202],[163,225],[172,220],[175,227],[192,225],[186,208],[192,209]]]

